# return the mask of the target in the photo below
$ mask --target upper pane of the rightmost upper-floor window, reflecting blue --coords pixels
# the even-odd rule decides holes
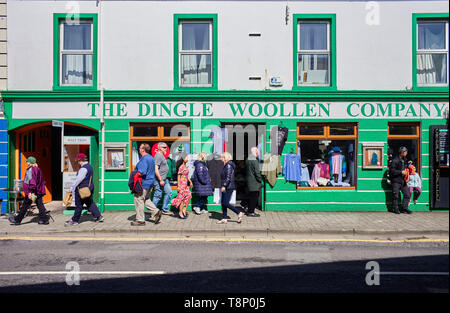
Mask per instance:
[[[445,23],[418,24],[418,47],[420,50],[445,49]]]

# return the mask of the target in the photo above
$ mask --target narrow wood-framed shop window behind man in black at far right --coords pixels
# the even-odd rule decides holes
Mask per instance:
[[[420,123],[391,122],[388,124],[388,166],[398,155],[400,147],[408,149],[406,159],[412,161],[416,170],[421,174],[420,159]]]

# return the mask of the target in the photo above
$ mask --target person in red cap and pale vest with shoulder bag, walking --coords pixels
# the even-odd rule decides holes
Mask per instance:
[[[92,213],[95,222],[103,222],[104,217],[101,215],[97,205],[94,202],[94,183],[92,182],[94,169],[92,165],[88,163],[88,158],[84,153],[78,154],[75,160],[80,166],[75,182],[70,188],[70,192],[73,193],[73,197],[75,198],[75,213],[70,220],[64,223],[64,226],[78,225],[81,212],[83,211],[83,205],[86,205],[87,209]],[[85,187],[89,189],[89,195],[82,198],[80,189]]]

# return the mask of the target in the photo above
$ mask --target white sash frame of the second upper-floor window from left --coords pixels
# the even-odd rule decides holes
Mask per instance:
[[[183,50],[183,24],[208,24],[209,25],[209,50]],[[212,87],[213,85],[213,21],[210,20],[180,20],[178,23],[178,81],[180,82],[180,87]],[[183,55],[197,55],[197,54],[209,54],[211,57],[211,84],[183,84],[183,79],[181,75],[183,74]]]

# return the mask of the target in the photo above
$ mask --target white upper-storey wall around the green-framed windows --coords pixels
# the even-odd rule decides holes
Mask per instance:
[[[8,89],[52,90],[53,13],[64,1],[8,1]],[[80,13],[99,13],[78,1]],[[109,90],[172,90],[173,15],[218,14],[218,89],[261,90],[270,76],[293,86],[293,14],[336,14],[338,90],[412,86],[412,14],[448,12],[448,1],[380,1],[368,25],[367,1],[103,1],[101,79]],[[286,4],[289,22],[286,25]],[[261,37],[249,37],[249,33]],[[251,81],[249,76],[261,76]],[[275,89],[275,88],[271,88]]]

